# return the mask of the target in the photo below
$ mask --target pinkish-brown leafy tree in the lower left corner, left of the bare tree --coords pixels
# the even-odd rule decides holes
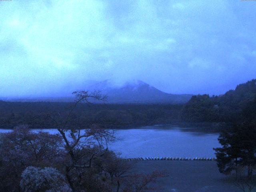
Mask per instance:
[[[1,134],[0,191],[16,190],[27,166],[53,166],[63,155],[59,135],[31,132],[26,126]]]

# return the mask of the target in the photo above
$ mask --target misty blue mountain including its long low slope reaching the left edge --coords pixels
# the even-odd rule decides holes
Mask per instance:
[[[26,97],[26,98],[2,98],[8,101],[22,101],[22,102],[72,102],[74,97],[71,93],[75,90],[88,90],[89,92],[100,91],[101,94],[107,95],[107,103],[169,103],[180,104],[186,103],[192,97],[191,94],[168,94],[162,92],[157,88],[141,80],[132,80],[123,84],[115,84],[111,80],[104,81],[87,81],[84,85],[79,86],[70,84],[62,88],[58,92],[52,94],[53,96],[45,97]],[[98,102],[91,100],[91,102]]]

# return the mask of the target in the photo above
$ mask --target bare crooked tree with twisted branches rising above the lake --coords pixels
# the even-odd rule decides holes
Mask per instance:
[[[65,149],[68,154],[65,169],[66,178],[72,190],[75,191],[74,179],[70,176],[70,173],[74,169],[80,170],[80,176],[76,179],[76,182],[78,181],[79,184],[79,178],[82,175],[81,170],[90,168],[92,161],[103,156],[104,151],[108,151],[108,143],[116,138],[114,137],[114,130],[109,130],[96,124],[83,131],[79,127],[68,127],[70,117],[79,103],[88,103],[90,99],[106,100],[106,96],[100,94],[100,92],[89,93],[88,91],[79,90],[72,94],[76,96],[76,100],[66,117],[62,118],[60,114],[58,114],[57,118],[50,114],[47,117],[55,122],[58,132],[64,140]]]

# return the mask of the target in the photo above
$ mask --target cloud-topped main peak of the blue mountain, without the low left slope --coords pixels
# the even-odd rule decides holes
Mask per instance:
[[[168,94],[150,86],[149,84],[133,80],[122,86],[115,86],[111,81],[105,80],[86,88],[94,91],[100,90],[108,96],[109,103],[186,103],[192,95],[190,94]]]

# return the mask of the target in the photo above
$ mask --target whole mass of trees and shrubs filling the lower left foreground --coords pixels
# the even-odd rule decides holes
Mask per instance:
[[[60,134],[35,133],[26,127],[2,134],[0,191],[143,192],[152,189],[148,184],[164,174],[132,172],[134,164],[103,148],[103,142],[113,139],[109,134],[91,128],[80,136],[73,132],[73,139],[68,142]],[[81,137],[83,141],[78,141]],[[99,143],[93,144],[94,141]]]

